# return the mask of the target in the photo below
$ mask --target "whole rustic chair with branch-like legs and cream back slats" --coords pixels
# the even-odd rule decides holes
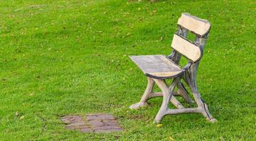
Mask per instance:
[[[169,56],[146,55],[130,56],[130,59],[145,73],[148,78],[148,87],[146,88],[140,102],[130,106],[130,109],[138,109],[146,106],[148,99],[152,97],[163,97],[160,110],[155,117],[155,123],[160,123],[162,118],[167,114],[185,114],[200,113],[206,117],[206,120],[212,123],[216,119],[211,116],[207,104],[201,98],[196,84],[196,73],[199,62],[203,55],[204,45],[211,29],[211,23],[207,20],[196,18],[189,13],[182,13],[178,20],[179,30],[174,34],[172,39],[172,54]],[[196,35],[195,41],[187,39],[187,33],[190,31]],[[181,56],[187,58],[188,63],[183,68],[179,66]],[[168,87],[166,79],[172,78],[172,83]],[[182,96],[186,102],[192,102],[188,91],[181,82],[183,79],[191,89],[196,101],[196,108],[184,108],[174,96]],[[153,92],[155,83],[160,87],[162,92]],[[177,92],[174,87],[177,86]],[[172,102],[177,109],[169,109],[168,104]]]

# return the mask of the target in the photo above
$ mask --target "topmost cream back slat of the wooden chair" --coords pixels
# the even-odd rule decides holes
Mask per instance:
[[[207,20],[191,16],[189,13],[182,13],[182,17],[178,20],[178,25],[200,36],[206,35],[211,28],[211,23]]]

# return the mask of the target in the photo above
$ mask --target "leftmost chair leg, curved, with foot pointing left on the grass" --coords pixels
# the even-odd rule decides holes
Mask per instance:
[[[152,93],[153,87],[155,85],[154,80],[152,78],[148,78],[148,86],[143,94],[143,97],[141,97],[140,102],[131,105],[130,109],[139,109],[142,106],[148,106],[148,99],[150,98],[150,94]]]

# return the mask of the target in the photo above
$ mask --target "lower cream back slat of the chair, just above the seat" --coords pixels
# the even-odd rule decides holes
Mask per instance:
[[[203,54],[200,47],[187,41],[187,39],[184,39],[177,34],[174,34],[174,37],[172,39],[172,48],[187,57],[187,59],[190,59],[194,62],[201,59],[201,56]]]

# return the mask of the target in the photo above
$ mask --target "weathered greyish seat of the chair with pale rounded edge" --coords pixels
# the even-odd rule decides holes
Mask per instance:
[[[130,56],[130,59],[150,78],[176,78],[184,73],[184,70],[179,65],[166,56]]]

